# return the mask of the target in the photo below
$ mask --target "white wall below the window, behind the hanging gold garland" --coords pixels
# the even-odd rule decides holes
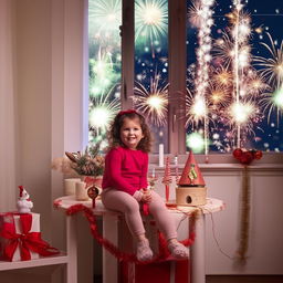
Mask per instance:
[[[247,264],[240,266],[220,251],[207,217],[208,274],[283,274],[283,167],[254,167],[250,171],[251,214]],[[242,170],[205,172],[210,197],[222,199],[226,210],[214,213],[216,237],[230,256],[239,248]]]

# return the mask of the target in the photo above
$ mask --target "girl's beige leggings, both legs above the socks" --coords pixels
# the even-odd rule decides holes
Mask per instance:
[[[177,238],[174,219],[168,212],[163,199],[155,191],[151,192],[149,202],[150,214],[157,222],[158,228],[167,240]],[[144,223],[140,216],[140,205],[133,196],[125,191],[108,188],[102,192],[103,205],[111,210],[116,210],[125,214],[129,231],[134,237],[145,233]]]

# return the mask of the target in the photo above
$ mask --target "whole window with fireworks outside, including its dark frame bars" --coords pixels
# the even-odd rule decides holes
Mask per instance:
[[[150,122],[155,153],[160,143],[171,154],[283,151],[276,2],[90,0],[91,140],[103,138],[122,106],[135,105]],[[107,119],[94,114],[99,103]]]

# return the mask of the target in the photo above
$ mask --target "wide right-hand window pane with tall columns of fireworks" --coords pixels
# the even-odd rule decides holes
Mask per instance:
[[[187,1],[187,145],[283,151],[279,1],[212,2]]]

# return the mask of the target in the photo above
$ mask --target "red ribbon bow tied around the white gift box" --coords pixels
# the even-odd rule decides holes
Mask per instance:
[[[32,214],[24,213],[20,214],[20,223],[22,227],[22,233],[18,234],[15,232],[13,214],[7,213],[6,217],[11,217],[12,221],[3,222],[2,229],[0,231],[0,237],[9,240],[8,243],[4,245],[3,255],[9,261],[12,261],[13,254],[19,245],[20,254],[22,261],[31,260],[30,251],[36,252],[40,255],[53,255],[57,254],[59,250],[52,248],[41,239],[40,232],[30,232],[31,224],[32,224]]]

